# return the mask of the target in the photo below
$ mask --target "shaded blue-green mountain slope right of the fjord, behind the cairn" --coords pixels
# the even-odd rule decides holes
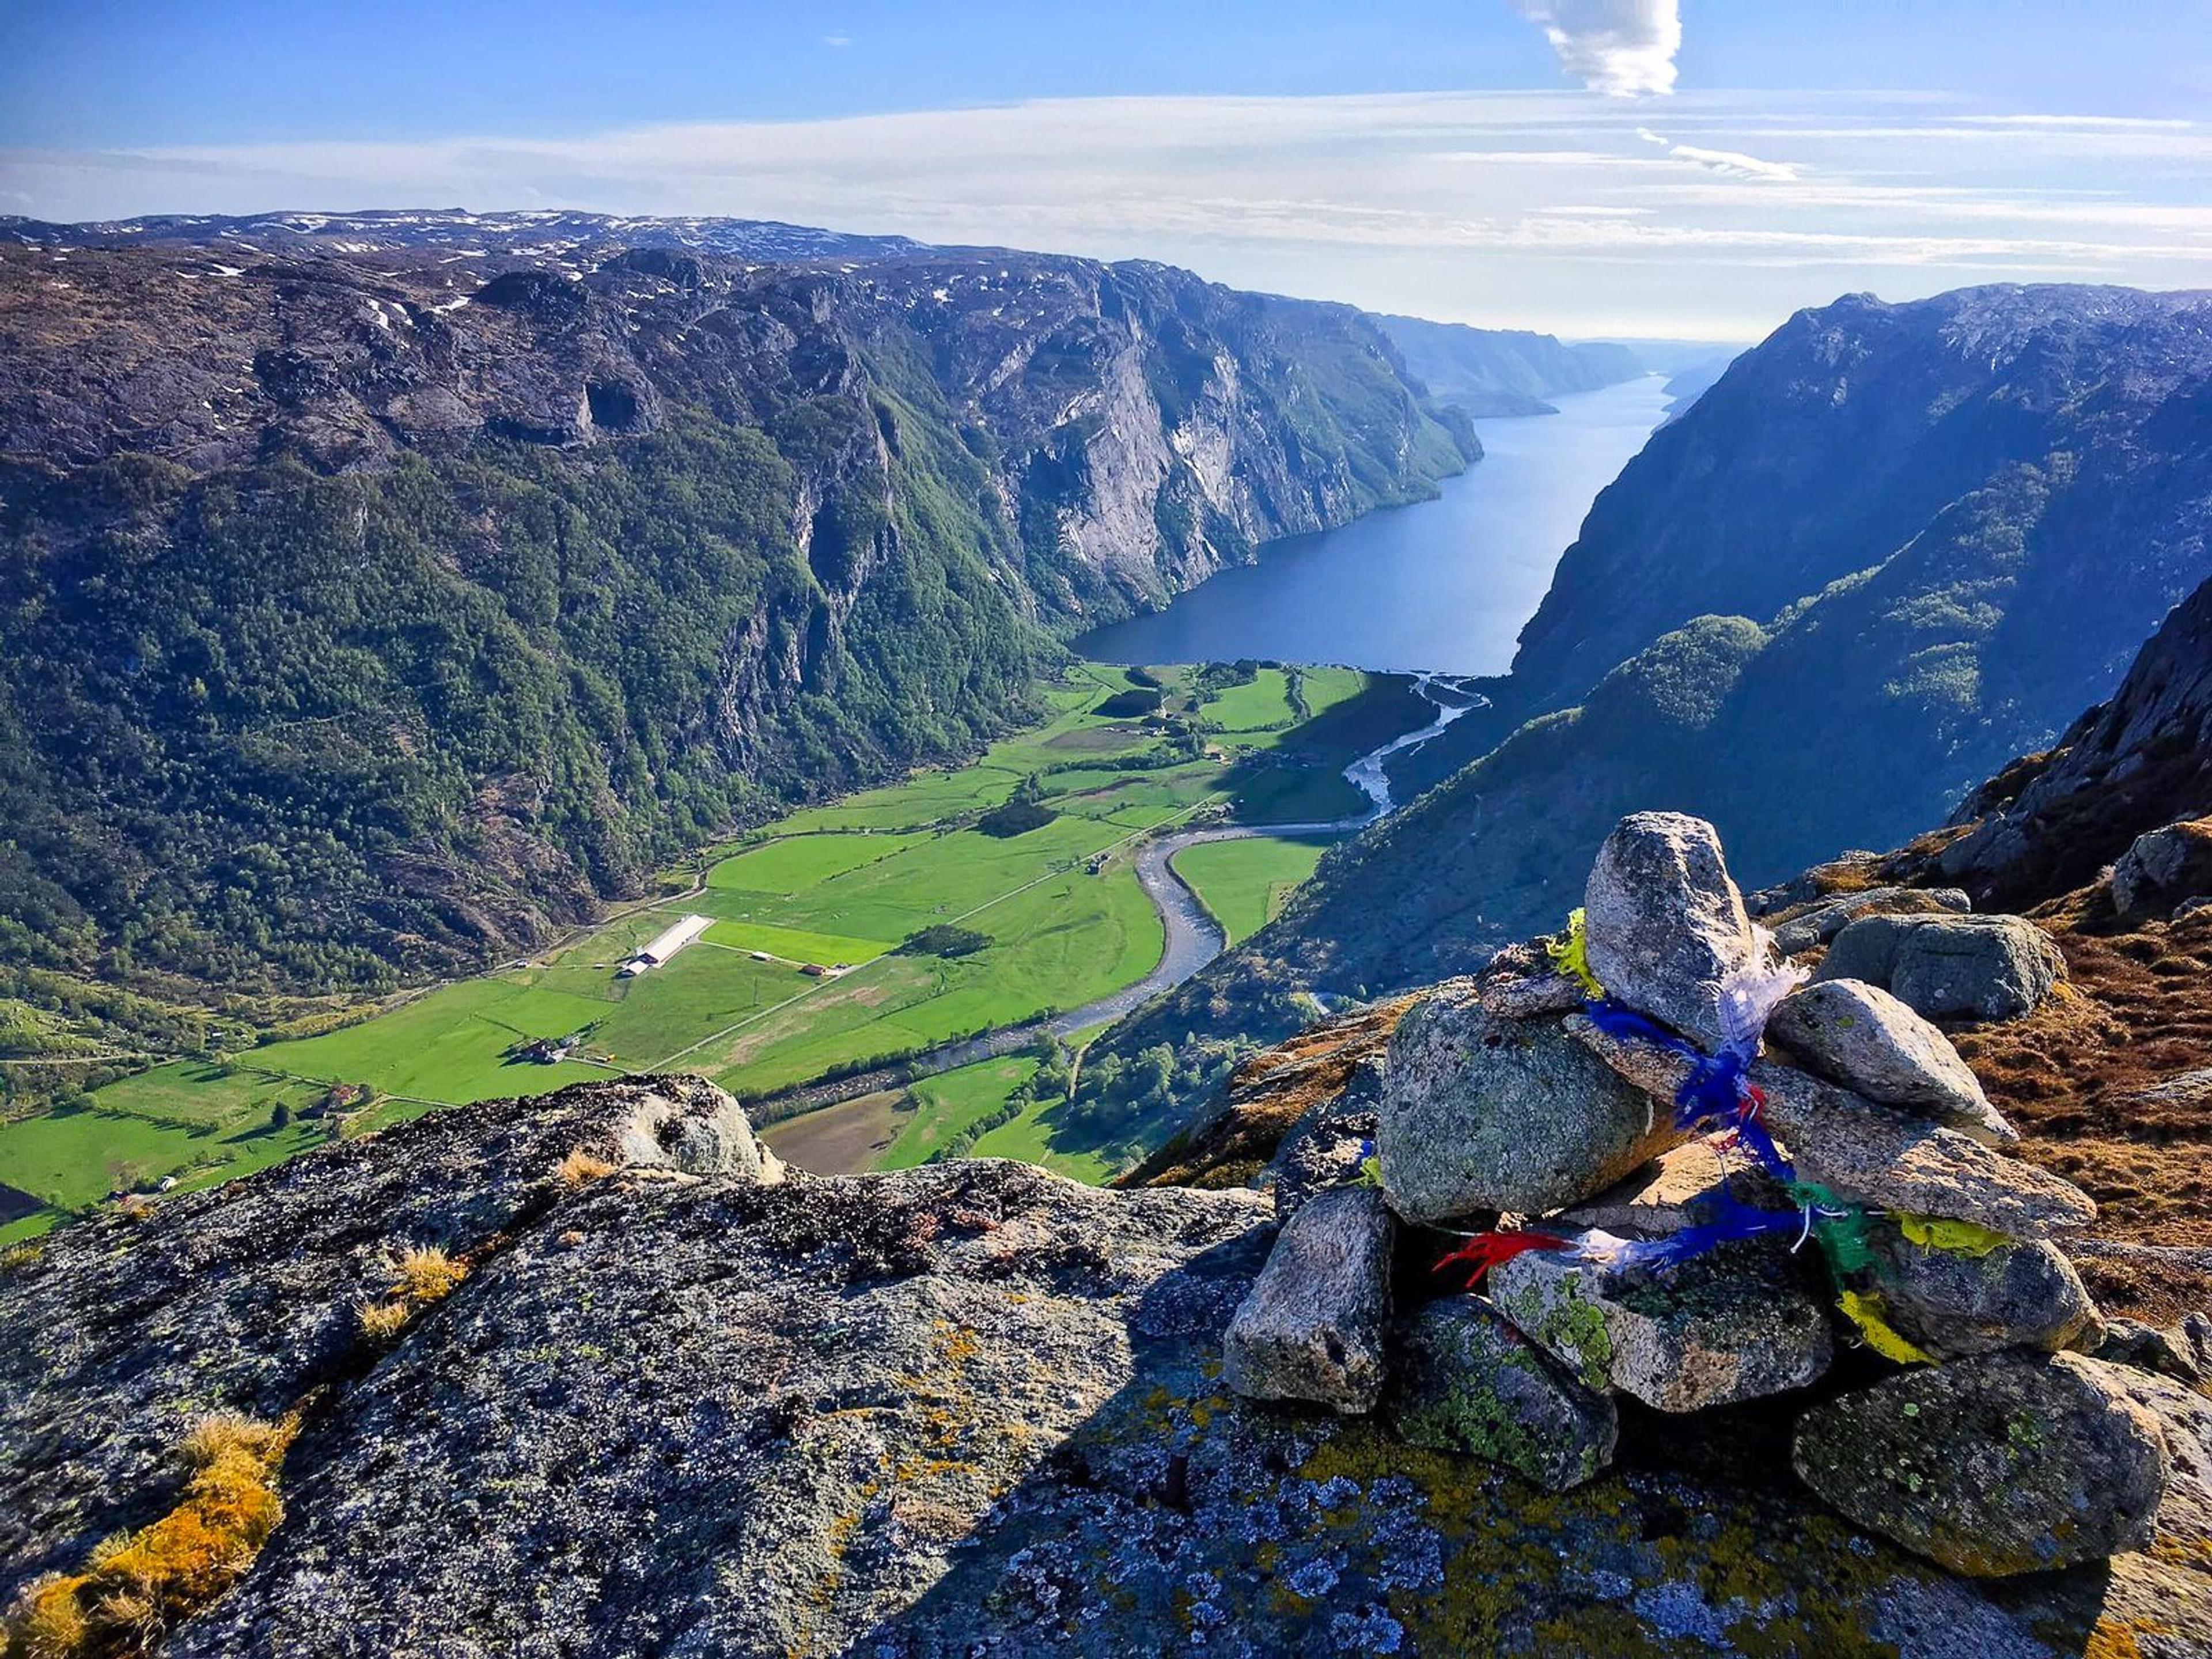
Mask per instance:
[[[2212,294],[1803,312],[1597,498],[1495,706],[1416,763],[1458,770],[1086,1075],[1467,971],[1557,925],[1628,810],[1712,818],[1752,885],[1896,845],[2108,695],[2208,577]]]

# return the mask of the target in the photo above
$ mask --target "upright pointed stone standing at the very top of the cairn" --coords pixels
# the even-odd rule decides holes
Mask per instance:
[[[1681,812],[1621,818],[1582,907],[1606,995],[1717,1048],[1721,980],[1756,960],[1759,942],[1714,827]]]

